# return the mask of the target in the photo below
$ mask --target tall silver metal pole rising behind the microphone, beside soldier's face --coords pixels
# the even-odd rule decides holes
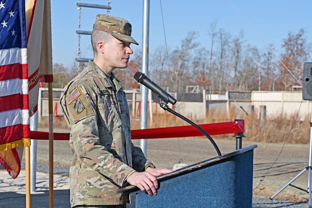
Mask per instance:
[[[149,0],[143,0],[143,35],[142,35],[142,73],[149,76]],[[140,129],[147,128],[147,87],[141,85]],[[146,139],[140,140],[140,148],[147,156]]]

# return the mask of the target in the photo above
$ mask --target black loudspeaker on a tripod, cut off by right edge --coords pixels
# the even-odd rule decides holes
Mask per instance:
[[[303,67],[302,99],[312,100],[312,62],[305,62]]]

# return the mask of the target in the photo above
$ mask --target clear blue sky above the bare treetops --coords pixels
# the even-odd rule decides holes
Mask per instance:
[[[312,38],[312,1],[311,0],[229,0],[253,29],[266,41],[273,43],[280,50],[283,38],[289,31],[298,32],[301,28],[306,31],[308,42]],[[76,3],[73,0],[51,1],[52,50],[53,63],[71,66],[75,62],[78,51],[78,17]],[[82,0],[82,3],[107,5],[107,1]],[[134,53],[142,47],[142,18],[143,0],[111,0],[110,15],[127,19],[132,24],[132,37],[140,44],[131,45]],[[244,43],[265,50],[266,45],[258,35],[236,12],[227,0],[162,0],[164,25],[167,46],[175,49],[187,37],[188,32],[196,31],[199,36],[196,42],[200,47],[210,50],[208,27],[217,20],[217,29],[223,28],[232,36],[238,36],[244,31]],[[106,9],[82,7],[81,30],[91,31],[95,16],[107,14]],[[150,55],[159,46],[165,45],[160,1],[150,0],[149,22],[149,52]],[[80,39],[81,55],[92,58],[93,52],[90,36],[82,35]],[[131,56],[130,56],[131,59]]]

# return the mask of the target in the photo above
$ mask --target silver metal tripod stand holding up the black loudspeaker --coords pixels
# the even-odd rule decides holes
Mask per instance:
[[[310,152],[309,152],[309,166],[305,167],[305,169],[303,169],[298,175],[296,175],[293,179],[291,179],[291,181],[289,181],[285,186],[283,186],[279,191],[277,191],[273,196],[270,197],[270,199],[273,199],[276,195],[278,195],[281,191],[283,191],[288,185],[295,187],[297,189],[300,189],[302,191],[306,191],[300,187],[291,185],[291,183],[293,181],[295,181],[299,176],[301,176],[306,170],[308,170],[308,191],[306,191],[307,193],[309,193],[309,208],[312,208],[311,205],[311,159],[312,159],[312,109],[311,109],[311,121],[310,121]]]

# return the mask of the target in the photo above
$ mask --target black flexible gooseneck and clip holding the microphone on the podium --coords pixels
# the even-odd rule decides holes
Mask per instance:
[[[159,97],[159,96],[158,96]],[[175,116],[178,116],[179,118],[183,119],[184,121],[188,122],[189,124],[191,124],[193,127],[197,128],[200,132],[202,132],[209,140],[210,142],[212,143],[213,147],[216,149],[217,153],[218,153],[218,156],[221,156],[221,152],[217,146],[217,144],[215,143],[215,141],[213,141],[213,139],[211,138],[211,136],[205,132],[204,129],[200,128],[196,123],[192,122],[191,120],[185,118],[183,115],[181,114],[178,114],[177,112],[173,111],[172,109],[169,108],[169,106],[167,105],[168,104],[168,100],[166,99],[160,99],[160,107],[164,110],[167,110],[169,113],[172,113],[173,115]]]

